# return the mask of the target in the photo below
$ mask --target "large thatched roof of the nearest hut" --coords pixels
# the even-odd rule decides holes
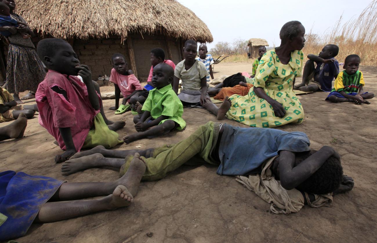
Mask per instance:
[[[15,12],[32,29],[63,39],[164,33],[213,41],[207,25],[176,0],[23,0],[17,1]]]

